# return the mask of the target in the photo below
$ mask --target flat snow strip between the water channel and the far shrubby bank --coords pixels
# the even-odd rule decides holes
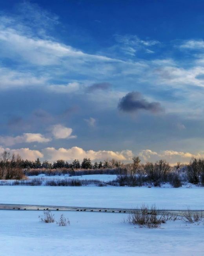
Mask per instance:
[[[0,186],[2,204],[203,210],[204,188]]]

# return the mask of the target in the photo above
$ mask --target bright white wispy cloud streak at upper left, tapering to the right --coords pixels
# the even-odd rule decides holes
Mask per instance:
[[[0,45],[4,48],[1,55],[20,56],[25,61],[35,65],[62,65],[67,58],[69,62],[72,58],[79,58],[81,63],[94,60],[112,61],[105,56],[86,54],[51,39],[32,37],[25,30],[22,32],[16,28],[6,28],[4,24],[0,26]]]

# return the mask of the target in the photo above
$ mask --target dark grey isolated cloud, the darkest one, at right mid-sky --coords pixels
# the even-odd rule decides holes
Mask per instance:
[[[124,112],[137,112],[140,109],[150,111],[152,113],[158,113],[162,111],[162,107],[159,102],[148,102],[142,98],[142,95],[138,92],[127,93],[122,97],[118,103],[118,108]]]

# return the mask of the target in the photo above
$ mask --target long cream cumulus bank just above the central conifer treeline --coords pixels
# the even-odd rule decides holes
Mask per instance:
[[[131,150],[123,150],[121,152],[114,152],[109,150],[87,150],[83,148],[72,147],[72,148],[44,148],[42,150],[43,154],[47,157],[49,161],[56,161],[57,159],[63,159],[66,161],[78,159],[83,160],[84,158],[90,158],[91,160],[105,160],[105,159],[117,159],[121,161],[131,160],[133,153]]]

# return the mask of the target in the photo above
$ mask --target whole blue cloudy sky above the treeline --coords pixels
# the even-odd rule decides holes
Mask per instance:
[[[0,1],[0,152],[204,157],[203,1]]]

